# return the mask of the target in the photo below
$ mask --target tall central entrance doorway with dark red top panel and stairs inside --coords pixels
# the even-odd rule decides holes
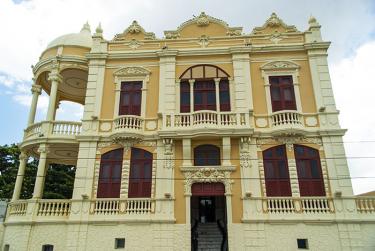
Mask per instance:
[[[224,184],[194,183],[191,193],[192,250],[227,250]]]

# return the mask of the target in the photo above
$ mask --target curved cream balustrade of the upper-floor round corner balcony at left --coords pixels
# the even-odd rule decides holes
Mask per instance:
[[[43,121],[33,124],[25,129],[24,139],[37,137],[68,137],[72,138],[81,134],[82,123],[75,121]]]

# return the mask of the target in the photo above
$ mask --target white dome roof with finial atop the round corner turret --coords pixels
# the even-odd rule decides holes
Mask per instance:
[[[84,24],[79,33],[66,34],[61,37],[56,38],[51,43],[48,44],[46,49],[50,49],[55,46],[61,45],[73,45],[91,48],[92,37],[90,25],[88,23]]]

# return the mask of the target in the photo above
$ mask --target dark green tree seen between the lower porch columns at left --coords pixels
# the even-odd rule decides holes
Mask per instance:
[[[11,199],[19,166],[20,150],[16,144],[0,146],[0,198]],[[21,199],[32,197],[38,160],[29,158],[22,183]],[[47,169],[43,198],[69,199],[72,196],[75,167],[51,164]]]

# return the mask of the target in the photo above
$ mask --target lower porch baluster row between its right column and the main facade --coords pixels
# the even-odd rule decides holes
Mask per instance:
[[[69,216],[71,202],[69,200],[38,201],[37,216]]]

